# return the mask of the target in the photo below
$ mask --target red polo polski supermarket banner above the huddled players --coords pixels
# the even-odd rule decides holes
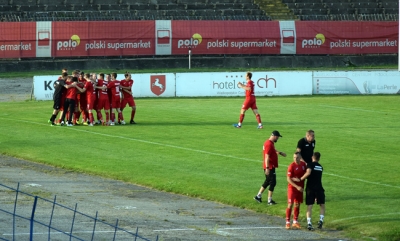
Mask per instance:
[[[154,21],[53,22],[53,57],[154,55]]]

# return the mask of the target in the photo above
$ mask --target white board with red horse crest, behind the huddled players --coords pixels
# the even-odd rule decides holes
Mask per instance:
[[[53,100],[54,81],[59,75],[34,76],[33,88],[36,100]],[[124,79],[124,74],[117,75],[118,80]],[[174,97],[174,74],[132,74],[134,97]]]

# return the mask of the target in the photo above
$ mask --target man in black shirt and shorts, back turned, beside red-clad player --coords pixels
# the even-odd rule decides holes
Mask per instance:
[[[305,180],[307,178],[306,184],[306,205],[307,205],[307,228],[308,230],[314,230],[311,223],[311,214],[312,207],[317,201],[317,204],[320,205],[319,211],[319,221],[318,228],[322,228],[322,224],[324,223],[325,216],[325,190],[322,187],[322,172],[323,168],[319,164],[319,160],[321,158],[321,154],[319,152],[315,152],[312,156],[312,162],[307,164],[306,173],[300,178],[300,181]]]

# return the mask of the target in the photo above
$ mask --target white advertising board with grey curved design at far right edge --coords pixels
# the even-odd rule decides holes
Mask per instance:
[[[315,71],[313,94],[400,94],[400,72]]]

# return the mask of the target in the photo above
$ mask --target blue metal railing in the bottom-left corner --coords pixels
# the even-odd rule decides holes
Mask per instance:
[[[36,240],[37,235],[47,236],[47,240],[54,236],[69,237],[69,240],[144,240],[135,232],[118,227],[118,219],[115,224],[109,224],[96,216],[92,217],[77,210],[78,204],[70,208],[56,202],[41,198],[20,190],[0,184],[0,232],[3,237],[10,240],[21,239],[22,234],[29,236],[29,240]],[[90,231],[87,231],[90,230]],[[7,234],[7,235],[4,235]],[[9,240],[0,236],[0,240]],[[156,238],[158,240],[158,236]]]

